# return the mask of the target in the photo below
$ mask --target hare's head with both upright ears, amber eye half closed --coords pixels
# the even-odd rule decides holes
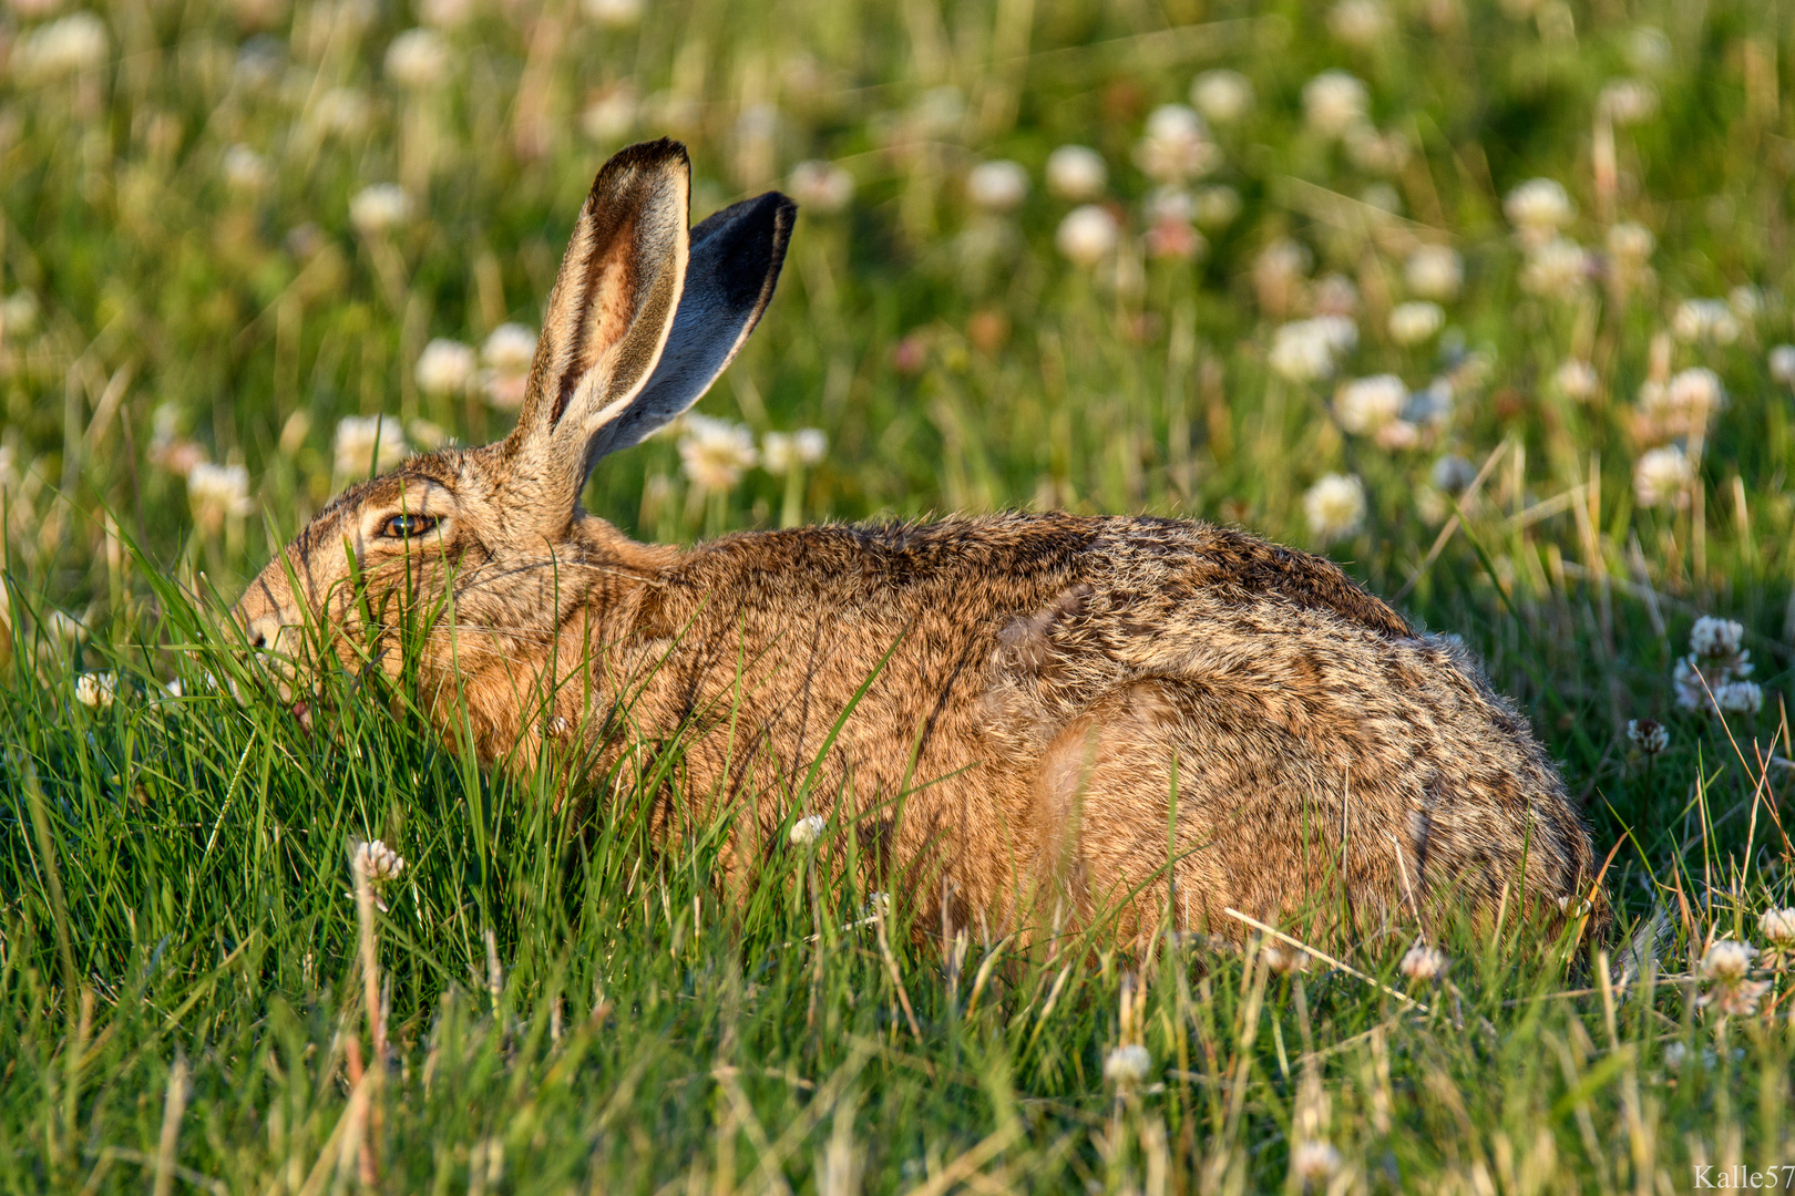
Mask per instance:
[[[416,620],[433,631],[427,656],[485,640],[517,660],[605,577],[653,559],[585,515],[580,491],[600,457],[691,407],[731,362],[772,298],[797,210],[768,192],[687,228],[689,192],[675,142],[605,163],[549,294],[517,429],[339,495],[237,604],[253,647],[284,671],[312,647],[391,671],[393,633]]]

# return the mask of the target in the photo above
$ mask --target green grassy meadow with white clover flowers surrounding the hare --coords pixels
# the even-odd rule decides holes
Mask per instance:
[[[1788,0],[7,0],[0,1187],[1763,1180],[1791,56]],[[1328,552],[1529,714],[1612,934],[939,941],[817,888],[827,821],[734,906],[716,836],[582,821],[404,694],[314,735],[223,694],[208,604],[350,481],[504,434],[598,163],[662,134],[695,217],[801,215],[594,513]]]

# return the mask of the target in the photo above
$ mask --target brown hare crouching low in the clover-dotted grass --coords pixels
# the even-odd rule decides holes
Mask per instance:
[[[668,834],[734,812],[741,880],[795,816],[831,816],[869,884],[930,923],[1118,911],[1122,936],[1169,918],[1239,938],[1228,907],[1307,909],[1307,932],[1335,936],[1431,902],[1558,918],[1596,897],[1526,721],[1461,647],[1316,556],[1169,518],[677,549],[587,515],[594,463],[691,407],[779,278],[790,199],[691,230],[687,199],[673,142],[605,163],[517,429],[325,507],[244,594],[253,646],[294,660],[318,626],[352,665],[391,669],[400,617],[433,608],[416,676],[445,739],[470,728],[485,760],[526,766],[564,741],[592,769],[680,739]]]

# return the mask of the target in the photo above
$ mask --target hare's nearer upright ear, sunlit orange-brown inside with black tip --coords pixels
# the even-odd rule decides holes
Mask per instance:
[[[691,163],[679,142],[632,145],[592,181],[506,441],[506,506],[533,531],[567,525],[596,461],[594,434],[628,409],[661,360],[686,283],[689,204]]]

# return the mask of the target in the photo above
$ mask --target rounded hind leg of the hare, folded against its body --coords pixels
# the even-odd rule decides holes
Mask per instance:
[[[1043,755],[1039,879],[1084,923],[1113,914],[1120,938],[1239,940],[1230,907],[1319,940],[1373,931],[1402,900],[1407,828],[1389,794],[1355,800],[1348,773],[1203,681],[1118,685]]]

